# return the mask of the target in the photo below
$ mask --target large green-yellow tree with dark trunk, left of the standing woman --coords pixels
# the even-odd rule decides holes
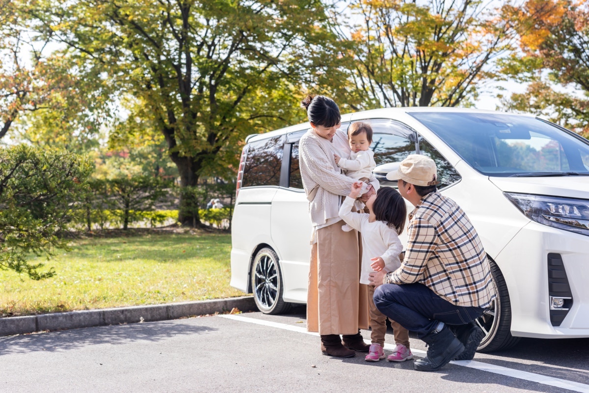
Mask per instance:
[[[319,0],[20,3],[70,58],[137,98],[128,118],[147,115],[163,135],[181,187],[233,176],[243,138],[300,117],[299,86],[337,59]],[[200,223],[193,195],[182,193],[183,223]]]

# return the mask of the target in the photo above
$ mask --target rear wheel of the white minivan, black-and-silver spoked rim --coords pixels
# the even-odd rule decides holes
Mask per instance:
[[[252,292],[257,308],[264,314],[280,314],[290,309],[284,302],[282,272],[278,255],[273,249],[265,247],[257,252],[252,263]]]

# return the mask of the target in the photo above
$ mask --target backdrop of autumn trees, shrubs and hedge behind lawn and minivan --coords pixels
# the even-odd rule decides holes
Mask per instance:
[[[587,136],[589,0],[0,0],[0,270],[51,276],[72,230],[230,229],[246,137],[305,121],[307,94],[489,91]]]

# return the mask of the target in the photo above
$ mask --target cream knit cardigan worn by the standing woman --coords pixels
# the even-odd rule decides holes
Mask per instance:
[[[343,133],[340,130],[337,132]],[[334,136],[336,137],[338,136]],[[341,197],[350,193],[352,184],[355,182],[342,173],[335,163],[334,153],[332,142],[318,136],[312,129],[300,138],[300,174],[309,200],[309,213],[313,227],[322,226],[328,220],[333,223],[340,220]],[[370,180],[373,187],[378,189],[378,181],[374,177]],[[365,184],[361,192],[365,193],[368,190],[367,187]]]

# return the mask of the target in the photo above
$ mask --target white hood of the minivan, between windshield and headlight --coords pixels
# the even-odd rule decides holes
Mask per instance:
[[[589,199],[589,176],[489,177],[489,180],[505,192]]]

